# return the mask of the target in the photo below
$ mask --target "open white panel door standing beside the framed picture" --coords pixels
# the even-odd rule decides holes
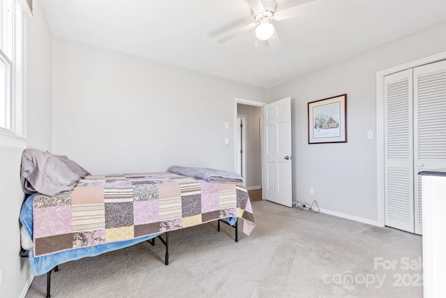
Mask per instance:
[[[263,107],[263,198],[292,207],[291,98]]]

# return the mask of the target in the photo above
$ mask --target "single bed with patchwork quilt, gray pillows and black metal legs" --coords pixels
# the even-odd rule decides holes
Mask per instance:
[[[174,166],[162,173],[98,176],[66,156],[53,157],[29,149],[22,156],[22,186],[29,198],[20,221],[33,243],[33,274],[47,273],[47,297],[51,271],[64,262],[159,238],[167,265],[170,231],[211,221],[220,229],[223,221],[237,232],[238,218],[245,234],[255,227],[249,195],[234,173]],[[67,169],[56,160],[77,172],[75,183],[70,172],[61,174]],[[51,177],[42,177],[48,171]]]

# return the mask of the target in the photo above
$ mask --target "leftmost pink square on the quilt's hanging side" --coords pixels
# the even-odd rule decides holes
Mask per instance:
[[[34,238],[69,234],[71,206],[55,206],[34,209]]]

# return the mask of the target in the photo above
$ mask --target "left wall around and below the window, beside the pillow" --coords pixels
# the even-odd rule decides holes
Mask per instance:
[[[28,147],[51,149],[52,130],[52,37],[39,0],[33,1],[34,17],[27,18],[27,75],[28,117],[26,128]],[[20,187],[20,161],[26,146],[6,148],[0,142],[0,297],[19,297],[26,291],[31,269],[29,260],[19,257],[19,214],[24,194]],[[22,293],[21,293],[22,292]]]

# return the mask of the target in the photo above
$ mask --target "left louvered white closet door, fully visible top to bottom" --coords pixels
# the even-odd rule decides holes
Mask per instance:
[[[385,225],[414,232],[412,69],[384,78]]]

